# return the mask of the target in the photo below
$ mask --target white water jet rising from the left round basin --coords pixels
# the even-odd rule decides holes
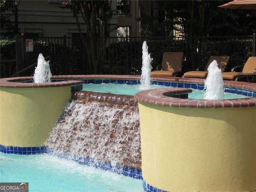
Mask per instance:
[[[51,82],[52,73],[50,70],[49,61],[44,60],[42,53],[38,55],[37,67],[34,73],[35,83],[48,83]]]

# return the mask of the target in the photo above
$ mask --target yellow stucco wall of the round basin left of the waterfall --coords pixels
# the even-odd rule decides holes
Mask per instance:
[[[71,88],[0,88],[0,144],[42,146]]]

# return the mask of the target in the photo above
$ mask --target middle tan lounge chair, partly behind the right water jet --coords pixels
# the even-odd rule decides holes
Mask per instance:
[[[182,77],[193,77],[193,78],[206,78],[208,71],[207,68],[210,65],[211,62],[213,62],[213,60],[216,60],[218,63],[218,68],[222,70],[222,72],[224,71],[226,65],[228,64],[228,60],[229,60],[229,56],[210,56],[206,66],[199,66],[198,68],[196,68],[196,71],[189,71],[184,73],[184,75]],[[201,70],[204,71],[201,71]]]

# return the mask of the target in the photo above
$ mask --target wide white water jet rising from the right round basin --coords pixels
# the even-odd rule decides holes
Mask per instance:
[[[224,82],[216,60],[211,62],[207,70],[208,75],[204,82],[204,89],[206,89],[204,99],[223,99]]]

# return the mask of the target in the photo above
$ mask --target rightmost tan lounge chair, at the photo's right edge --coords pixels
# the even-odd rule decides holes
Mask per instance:
[[[238,70],[239,72],[235,72]],[[245,80],[250,81],[250,78],[256,78],[256,57],[249,57],[244,66],[236,66],[231,69],[231,72],[223,72],[224,80]]]

